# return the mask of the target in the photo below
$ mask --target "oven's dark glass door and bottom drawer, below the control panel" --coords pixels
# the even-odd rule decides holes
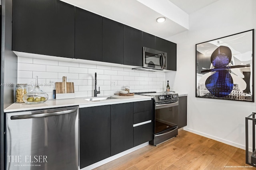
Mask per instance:
[[[178,102],[155,105],[154,139],[156,146],[178,135]]]

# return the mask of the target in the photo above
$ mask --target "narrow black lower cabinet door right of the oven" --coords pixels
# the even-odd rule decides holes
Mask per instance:
[[[178,128],[187,125],[187,96],[179,97]]]

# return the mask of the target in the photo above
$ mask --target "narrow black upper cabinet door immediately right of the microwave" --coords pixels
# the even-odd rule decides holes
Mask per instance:
[[[166,41],[167,47],[167,70],[174,70],[176,71],[176,48],[177,44],[172,43],[170,41]]]

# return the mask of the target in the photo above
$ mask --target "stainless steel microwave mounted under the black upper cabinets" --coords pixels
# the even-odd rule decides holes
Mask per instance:
[[[136,70],[159,71],[167,69],[167,53],[143,47],[143,66]]]

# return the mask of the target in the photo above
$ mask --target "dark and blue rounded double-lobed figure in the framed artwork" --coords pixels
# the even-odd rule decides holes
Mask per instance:
[[[234,84],[230,74],[232,66],[229,66],[231,58],[231,50],[226,46],[218,47],[211,55],[212,74],[206,79],[205,86],[213,96],[225,97],[233,90]],[[209,70],[202,72],[209,72]]]

